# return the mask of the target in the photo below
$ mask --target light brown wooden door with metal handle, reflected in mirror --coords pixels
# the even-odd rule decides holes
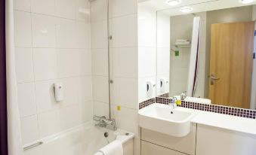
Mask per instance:
[[[211,25],[212,103],[250,108],[253,41],[254,22]],[[219,79],[211,80],[211,75]]]

